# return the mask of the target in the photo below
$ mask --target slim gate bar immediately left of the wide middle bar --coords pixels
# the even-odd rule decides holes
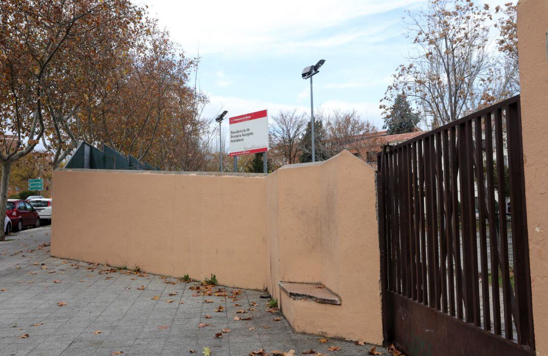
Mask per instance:
[[[459,139],[460,141],[460,139]],[[456,317],[458,319],[463,319],[463,271],[461,269],[461,258],[460,258],[460,219],[459,219],[459,185],[458,179],[459,176],[459,160],[458,151],[457,151],[457,142],[456,142],[456,127],[451,128],[451,186],[453,190],[451,191],[452,195],[452,204],[453,204],[453,218],[451,221],[452,230],[453,230],[453,256],[455,259],[455,274],[456,274]]]

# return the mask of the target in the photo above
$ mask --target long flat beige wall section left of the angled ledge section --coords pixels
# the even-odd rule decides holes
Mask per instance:
[[[52,255],[264,289],[265,179],[54,171]]]

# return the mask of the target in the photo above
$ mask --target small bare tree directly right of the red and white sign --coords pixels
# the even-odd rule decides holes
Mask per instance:
[[[304,114],[293,111],[280,111],[272,117],[270,128],[273,153],[283,157],[285,164],[297,163],[299,143],[306,127]]]

